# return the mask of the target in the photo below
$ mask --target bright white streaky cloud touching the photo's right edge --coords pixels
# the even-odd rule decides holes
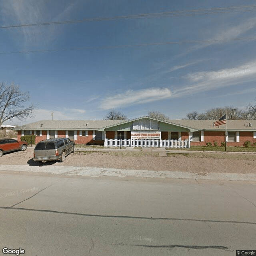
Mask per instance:
[[[173,91],[173,96],[182,97],[196,92],[215,90],[217,88],[255,80],[255,77],[256,61],[236,68],[190,73],[185,77],[190,85]]]

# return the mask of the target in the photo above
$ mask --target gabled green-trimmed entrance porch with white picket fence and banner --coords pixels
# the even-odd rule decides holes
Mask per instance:
[[[190,148],[193,128],[147,116],[100,129],[106,147]]]

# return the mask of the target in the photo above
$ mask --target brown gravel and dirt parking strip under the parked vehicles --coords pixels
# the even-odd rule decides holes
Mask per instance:
[[[4,154],[1,165],[42,165],[33,161],[33,150],[16,151]],[[102,168],[162,170],[196,172],[204,175],[209,172],[256,173],[256,154],[144,154],[142,152],[75,152],[66,157],[63,163],[46,162],[54,166],[91,166]]]

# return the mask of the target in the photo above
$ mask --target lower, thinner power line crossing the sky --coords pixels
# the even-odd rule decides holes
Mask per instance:
[[[85,46],[81,48],[62,48],[62,49],[42,49],[42,50],[24,50],[17,52],[0,52],[0,54],[16,54],[16,53],[36,53],[36,52],[59,52],[59,51],[70,51],[70,50],[99,50],[99,49],[115,49],[115,48],[128,48],[128,47],[142,47],[152,45],[168,45],[168,44],[195,44],[195,43],[210,43],[210,42],[228,42],[228,41],[242,41],[242,40],[255,40],[256,37],[241,37],[232,39],[214,39],[214,40],[197,40],[197,41],[171,41],[171,42],[156,42],[156,43],[145,43],[145,44],[124,44],[115,46],[98,46],[90,47]]]

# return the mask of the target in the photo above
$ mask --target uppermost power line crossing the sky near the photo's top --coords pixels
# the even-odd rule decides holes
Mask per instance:
[[[234,11],[249,12],[249,11],[253,11],[253,9],[255,8],[256,8],[256,5],[180,10],[180,11],[172,11],[172,12],[152,12],[152,13],[134,14],[134,15],[127,15],[127,16],[98,17],[98,18],[87,18],[83,20],[64,20],[64,21],[54,21],[54,22],[33,23],[33,24],[0,26],[0,29],[21,28],[21,27],[31,27],[31,26],[47,26],[47,25],[58,25],[58,24],[72,24],[72,23],[96,22],[96,21],[108,21],[108,20],[120,20],[120,19],[157,18],[157,17],[165,17],[165,16],[194,16],[194,15],[216,14],[216,13],[226,13],[226,12],[234,12]]]

